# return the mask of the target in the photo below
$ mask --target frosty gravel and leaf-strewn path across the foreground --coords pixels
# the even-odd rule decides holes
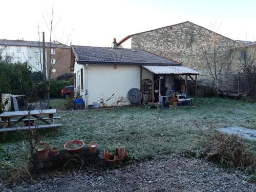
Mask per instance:
[[[43,175],[2,191],[256,191],[242,175],[201,159],[172,157],[108,171]]]

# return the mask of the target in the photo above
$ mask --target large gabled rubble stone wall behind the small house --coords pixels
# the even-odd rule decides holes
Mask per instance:
[[[199,71],[200,79],[209,79],[211,76],[202,48],[206,42],[207,50],[213,52],[213,34],[214,32],[210,30],[185,22],[138,33],[132,35],[129,39],[131,39],[132,49],[143,49],[179,60],[183,62],[184,66]],[[218,39],[218,51],[223,54],[222,57],[224,58],[227,50],[234,46],[234,41],[219,34],[216,34],[215,38]],[[128,48],[124,46],[125,44],[124,41],[121,44],[122,47]]]

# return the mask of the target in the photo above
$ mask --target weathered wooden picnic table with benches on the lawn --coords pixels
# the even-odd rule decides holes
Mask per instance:
[[[32,130],[32,129],[46,129],[61,126],[61,123],[54,123],[54,119],[60,117],[54,117],[56,113],[55,109],[50,110],[32,110],[32,111],[12,111],[4,112],[0,114],[1,123],[3,128],[0,128],[0,133],[4,132],[2,140],[5,140],[6,132],[17,130]],[[42,117],[48,115],[48,117]],[[15,118],[15,119],[13,119]],[[48,121],[50,120],[50,121]],[[34,125],[34,121],[41,121],[45,124]],[[24,122],[25,126],[15,126],[19,122]]]

